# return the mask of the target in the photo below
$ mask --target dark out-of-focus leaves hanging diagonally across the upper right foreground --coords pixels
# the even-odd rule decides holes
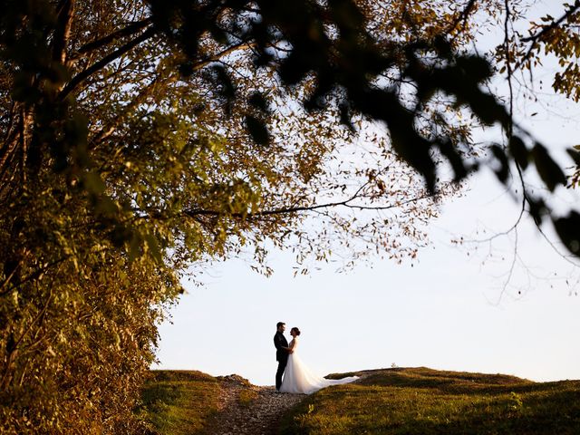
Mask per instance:
[[[473,13],[475,3],[467,2],[461,5],[462,9],[449,10],[441,6],[443,12],[440,16],[443,19],[439,33],[432,33],[433,28],[425,25],[426,17],[429,17],[427,21],[437,22],[432,15],[423,14],[423,20],[415,22],[416,17],[409,14],[415,5],[402,6],[401,15],[397,15],[402,17],[401,21],[393,24],[392,28],[403,24],[401,27],[406,26],[408,33],[394,37],[390,33],[386,36],[372,33],[370,29],[376,27],[369,19],[370,14],[364,12],[375,10],[369,4],[351,0],[336,0],[328,5],[310,1],[272,5],[256,1],[251,5],[233,2],[199,7],[175,1],[166,6],[167,14],[180,19],[157,24],[187,55],[198,50],[191,43],[196,40],[196,33],[191,32],[194,26],[188,25],[189,19],[195,21],[193,17],[203,16],[212,20],[214,37],[223,33],[239,41],[255,42],[255,66],[274,69],[286,86],[296,86],[306,78],[314,77],[313,88],[301,98],[306,110],[324,111],[335,104],[341,120],[350,128],[353,127],[353,118],[361,115],[381,122],[390,136],[392,150],[420,172],[427,189],[433,192],[436,190],[441,160],[447,160],[455,180],[464,179],[469,172],[479,168],[479,162],[469,161],[462,153],[466,149],[472,150],[469,140],[461,135],[449,134],[455,122],[446,120],[445,111],[449,105],[431,106],[433,100],[441,95],[449,98],[449,104],[457,109],[470,112],[482,124],[501,127],[506,133],[507,142],[515,137],[520,141],[528,137],[536,142],[513,120],[511,94],[505,107],[495,95],[484,91],[484,84],[494,70],[488,60],[466,53],[456,45],[456,34],[465,31],[462,24]],[[155,4],[153,2],[154,10]],[[568,59],[576,55],[574,34],[580,7],[578,2],[565,4],[565,14],[557,20],[547,17],[545,25],[530,24],[531,32],[537,28],[541,30],[521,41],[517,41],[517,32],[509,31],[514,22],[526,19],[525,14],[517,10],[520,2],[488,5],[487,12],[492,16],[496,14],[494,6],[502,7],[505,14],[505,43],[497,49],[497,60],[505,64],[500,71],[507,70],[510,89],[514,69],[530,67],[531,55],[540,45],[538,42],[546,43],[546,53],[556,53],[561,64],[569,63],[572,68],[573,62]],[[384,5],[384,8],[389,10],[390,6]],[[295,19],[290,9],[300,19]],[[219,16],[214,15],[218,10],[232,11],[231,21],[213,21],[212,17]],[[532,44],[525,51],[519,43],[527,41],[532,41]],[[285,47],[282,53],[279,53],[280,45]],[[562,82],[570,89],[575,87],[573,76],[562,79],[561,75],[556,75],[556,82],[558,80],[560,84],[555,84],[556,91],[563,90]],[[403,83],[411,86],[413,92],[401,92]],[[234,98],[234,95],[229,98]],[[431,121],[430,129],[420,131],[417,125],[424,119],[427,108],[438,121]],[[446,128],[439,133],[441,124]],[[256,125],[252,131],[256,133]],[[260,140],[265,140],[266,131],[262,131],[260,137]],[[493,142],[488,147],[495,158],[491,164],[499,165],[496,170],[498,179],[507,187],[512,185],[512,169],[517,169],[515,172],[524,190],[522,212],[526,210],[538,227],[546,218],[556,225],[561,217],[553,211],[547,197],[538,196],[527,189],[526,179],[513,160],[514,156],[507,152],[507,147]],[[546,146],[534,143],[531,148],[532,159],[527,161],[532,163],[530,166],[536,169],[546,188],[553,192],[556,187],[565,185],[564,171],[548,154]],[[571,211],[567,219],[575,221],[575,212]],[[566,247],[575,246],[580,239],[577,233],[558,234],[571,237],[562,240]],[[578,251],[572,253],[576,255]]]

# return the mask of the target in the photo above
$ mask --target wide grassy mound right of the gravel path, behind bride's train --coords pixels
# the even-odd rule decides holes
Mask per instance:
[[[385,369],[327,388],[285,415],[283,435],[580,433],[580,381]]]

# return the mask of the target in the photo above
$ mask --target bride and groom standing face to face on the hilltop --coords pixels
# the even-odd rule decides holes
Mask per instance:
[[[274,335],[275,359],[278,362],[278,370],[275,373],[276,391],[311,394],[330,385],[353,382],[358,379],[358,376],[351,376],[329,380],[311,372],[296,353],[300,330],[296,327],[290,330],[292,340],[288,344],[284,335],[285,329],[284,322],[276,324]]]

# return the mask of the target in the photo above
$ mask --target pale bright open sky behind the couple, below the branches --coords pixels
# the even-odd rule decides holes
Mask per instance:
[[[577,143],[580,111],[562,97],[544,101],[519,102],[517,116],[557,155]],[[577,203],[574,193],[557,194],[564,205]],[[564,248],[547,243],[529,219],[518,227],[517,243],[513,232],[484,241],[511,227],[518,213],[517,202],[483,171],[460,198],[444,203],[429,226],[430,246],[412,264],[376,259],[338,274],[331,263],[293,277],[293,256],[275,251],[269,278],[244,259],[215,264],[204,285],[184,280],[188,293],[160,325],[153,368],[237,373],[272,385],[272,339],[283,321],[288,330],[300,327],[301,357],[323,375],[394,364],[538,382],[580,379],[580,273],[556,253]],[[474,241],[458,247],[456,237]]]

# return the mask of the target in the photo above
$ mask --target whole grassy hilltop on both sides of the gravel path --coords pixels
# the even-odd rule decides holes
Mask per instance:
[[[580,381],[530,382],[422,367],[330,377],[353,374],[362,379],[304,396],[285,412],[279,434],[580,434]],[[227,416],[218,413],[225,385],[201,372],[151,372],[138,412],[151,433],[209,433],[209,420]],[[241,403],[245,389],[255,387],[240,388]],[[252,406],[244,405],[248,415]]]

